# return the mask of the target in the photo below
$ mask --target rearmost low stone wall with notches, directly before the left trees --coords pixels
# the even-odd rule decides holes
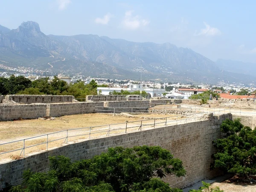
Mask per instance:
[[[31,104],[31,103],[67,103],[72,102],[75,99],[74,96],[65,95],[6,95],[3,103],[8,101],[14,101],[20,104]]]

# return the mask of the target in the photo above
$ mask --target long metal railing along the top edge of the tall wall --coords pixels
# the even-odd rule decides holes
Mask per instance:
[[[191,107],[192,109],[192,107]],[[198,110],[198,111],[197,111]],[[108,125],[97,125],[85,128],[73,128],[67,129],[64,131],[57,131],[49,134],[43,134],[40,136],[29,137],[23,140],[16,140],[8,143],[0,144],[0,155],[13,153],[15,151],[20,151],[18,153],[20,156],[23,155],[25,157],[26,154],[29,154],[33,150],[28,150],[29,148],[44,145],[44,149],[41,150],[48,150],[49,144],[56,141],[61,141],[60,143],[54,143],[54,147],[61,146],[63,144],[68,144],[77,140],[90,140],[93,138],[99,137],[106,137],[110,136],[110,134],[122,134],[127,133],[130,131],[142,131],[142,128],[152,128],[152,127],[164,127],[168,125],[178,125],[187,122],[195,122],[196,120],[202,120],[204,115],[209,113],[213,113],[214,115],[220,115],[223,113],[232,113],[232,110],[229,108],[195,108],[197,113],[190,113],[189,115],[177,115],[177,116],[167,116],[163,118],[154,118],[154,119],[144,119],[139,121],[132,121],[132,122],[125,122],[125,123],[115,123],[115,124],[108,124]],[[245,110],[235,110],[233,113],[237,115],[241,115],[242,113],[251,113],[256,114],[256,111],[248,111],[244,112]],[[57,134],[57,137],[54,135]],[[44,137],[42,139],[42,137]],[[73,138],[73,139],[71,139]],[[40,140],[43,140],[40,142]],[[34,144],[29,144],[34,143]],[[6,146],[7,145],[7,146]],[[13,147],[13,145],[18,145]],[[5,147],[6,146],[6,147]],[[5,149],[6,148],[6,149]],[[11,149],[10,149],[11,148]],[[50,147],[52,148],[52,147]],[[26,150],[26,151],[25,151]],[[34,150],[35,151],[35,150]],[[16,154],[17,155],[17,154]],[[0,156],[1,157],[1,156]]]

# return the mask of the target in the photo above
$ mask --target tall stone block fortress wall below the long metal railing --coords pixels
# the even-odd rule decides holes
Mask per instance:
[[[0,184],[17,185],[22,182],[22,173],[27,169],[33,172],[49,169],[49,156],[64,155],[71,160],[91,158],[107,151],[109,147],[133,147],[139,145],[159,145],[183,161],[186,176],[177,178],[167,176],[164,180],[172,187],[186,187],[203,179],[217,176],[218,170],[210,170],[211,155],[214,153],[212,141],[221,137],[219,125],[231,114],[209,116],[210,119],[172,125],[134,133],[86,140],[80,143],[65,145],[40,154],[35,154],[20,160],[0,164]],[[142,129],[143,130],[143,129]],[[1,188],[0,185],[0,188]]]

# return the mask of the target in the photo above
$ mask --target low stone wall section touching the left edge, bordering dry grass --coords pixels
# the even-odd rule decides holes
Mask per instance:
[[[46,116],[47,105],[0,105],[0,120],[35,119]]]

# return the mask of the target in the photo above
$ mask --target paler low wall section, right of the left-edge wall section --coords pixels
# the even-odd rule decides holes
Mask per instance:
[[[47,104],[47,116],[63,116],[84,113],[96,113],[95,106],[102,106],[103,102],[77,102]]]

